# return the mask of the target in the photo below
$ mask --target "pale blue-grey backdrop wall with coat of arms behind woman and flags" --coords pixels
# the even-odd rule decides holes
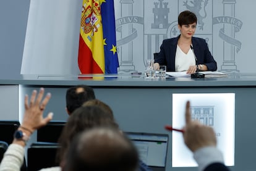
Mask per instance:
[[[165,38],[179,34],[177,15],[197,14],[218,70],[255,73],[253,0],[114,0],[119,72],[143,71]],[[82,1],[0,1],[0,70],[7,74],[77,74]],[[245,10],[249,12],[245,12]],[[23,59],[23,62],[22,62]]]

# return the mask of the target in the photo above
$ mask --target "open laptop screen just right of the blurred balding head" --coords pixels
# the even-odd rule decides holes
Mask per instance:
[[[153,171],[166,169],[168,134],[126,132],[138,149],[140,160]]]

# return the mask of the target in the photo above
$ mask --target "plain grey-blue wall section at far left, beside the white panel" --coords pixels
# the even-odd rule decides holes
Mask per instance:
[[[0,73],[20,73],[30,0],[0,1]]]

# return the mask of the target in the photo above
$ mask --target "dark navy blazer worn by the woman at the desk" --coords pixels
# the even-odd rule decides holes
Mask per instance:
[[[175,72],[175,55],[179,36],[164,40],[163,44],[160,46],[158,56],[155,57],[155,63],[166,65],[168,72]],[[195,56],[197,57],[197,64],[207,65],[209,71],[217,70],[217,63],[215,59],[213,59],[206,41],[202,38],[192,37],[192,44]]]

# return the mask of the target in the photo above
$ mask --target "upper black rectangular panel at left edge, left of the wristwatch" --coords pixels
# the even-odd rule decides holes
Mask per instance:
[[[0,120],[0,141],[11,144],[12,140],[14,140],[14,132],[19,128],[19,125],[19,120]]]

